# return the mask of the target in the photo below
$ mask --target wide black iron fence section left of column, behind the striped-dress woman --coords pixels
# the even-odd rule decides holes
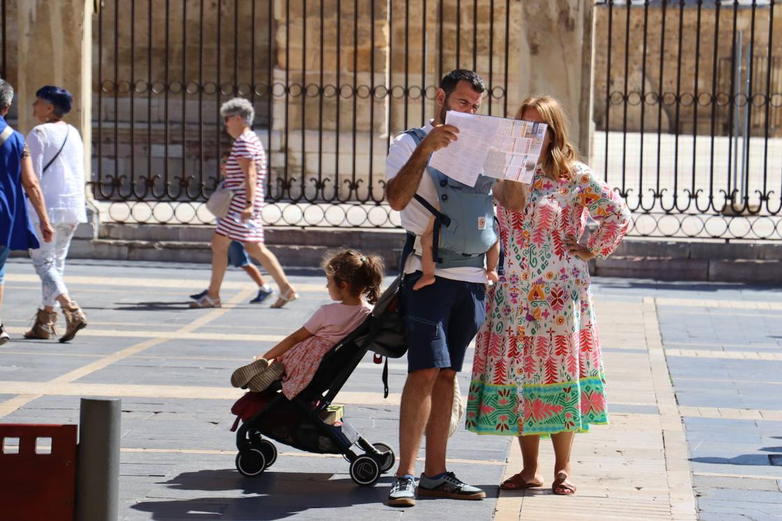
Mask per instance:
[[[486,112],[508,113],[511,9],[510,0],[104,0],[93,31],[95,198],[119,220],[210,222],[196,203],[230,146],[219,107],[243,96],[270,166],[268,222],[396,226],[382,205],[387,147],[432,117],[439,77],[478,70]]]

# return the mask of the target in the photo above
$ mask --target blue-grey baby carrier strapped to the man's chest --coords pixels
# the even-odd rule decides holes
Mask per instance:
[[[407,130],[405,134],[411,136],[416,145],[426,137],[420,128]],[[491,191],[494,180],[479,175],[475,187],[471,187],[447,177],[428,163],[426,171],[435,184],[440,209],[418,194],[414,198],[435,217],[432,255],[437,267],[482,268],[486,252],[497,242],[499,233]],[[414,240],[415,236],[408,231],[408,243]],[[405,249],[412,250],[412,245],[406,245]]]

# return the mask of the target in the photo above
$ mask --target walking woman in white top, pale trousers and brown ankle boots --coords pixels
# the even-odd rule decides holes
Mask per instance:
[[[48,219],[54,228],[54,238],[47,243],[40,241],[41,248],[30,250],[35,273],[41,277],[43,302],[36,312],[33,327],[24,337],[48,339],[54,336],[57,320],[54,307],[59,302],[66,319],[66,332],[59,341],[67,342],[87,326],[84,312],[70,299],[63,283],[70,240],[78,224],[87,222],[84,144],[78,130],[62,120],[73,104],[70,92],[47,85],[41,87],[35,97],[33,116],[41,124],[27,134],[27,146],[44,194]],[[41,228],[34,212],[30,213],[30,219],[40,237]]]

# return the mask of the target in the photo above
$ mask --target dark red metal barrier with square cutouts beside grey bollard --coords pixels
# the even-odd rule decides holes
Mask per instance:
[[[76,434],[75,425],[0,423],[2,519],[74,519]]]

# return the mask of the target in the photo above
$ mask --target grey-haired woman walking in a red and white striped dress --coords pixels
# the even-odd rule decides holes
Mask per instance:
[[[264,207],[266,155],[264,147],[250,125],[255,119],[253,105],[244,98],[233,98],[220,108],[225,130],[235,139],[228,156],[225,187],[234,191],[228,215],[217,223],[212,237],[212,278],[209,290],[192,308],[219,308],[220,287],[228,268],[228,247],[231,241],[244,243],[249,255],[258,259],[279,288],[279,298],[271,306],[282,308],[299,297],[288,282],[277,257],[264,244],[264,228],[260,211]]]

